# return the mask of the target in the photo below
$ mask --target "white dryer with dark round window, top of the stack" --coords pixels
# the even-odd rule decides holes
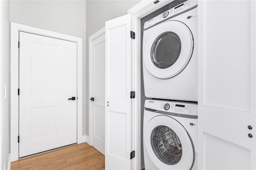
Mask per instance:
[[[148,98],[197,101],[197,1],[145,22],[143,76]]]

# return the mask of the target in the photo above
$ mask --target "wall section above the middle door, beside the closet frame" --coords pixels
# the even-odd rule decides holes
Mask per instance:
[[[86,0],[86,82],[88,82],[88,37],[105,26],[105,22],[127,14],[140,0]],[[89,84],[86,83],[86,134],[89,134]],[[85,130],[85,129],[84,129]]]

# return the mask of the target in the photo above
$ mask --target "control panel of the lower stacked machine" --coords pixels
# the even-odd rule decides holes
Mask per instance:
[[[198,115],[197,104],[186,101],[146,100],[144,107],[183,115]]]

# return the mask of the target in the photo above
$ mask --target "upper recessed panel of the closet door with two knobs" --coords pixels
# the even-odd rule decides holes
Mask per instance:
[[[250,1],[204,8],[205,104],[250,112]]]

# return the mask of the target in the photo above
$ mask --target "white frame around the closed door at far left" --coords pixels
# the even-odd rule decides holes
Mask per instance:
[[[33,33],[61,40],[77,43],[77,143],[85,142],[82,134],[82,38],[60,34],[40,28],[10,23],[10,154],[11,161],[18,160],[18,132],[19,132],[19,101],[18,101],[18,78],[19,78],[19,31]],[[84,73],[85,74],[85,73]],[[86,99],[85,99],[86,100]],[[85,108],[84,108],[85,109]]]

